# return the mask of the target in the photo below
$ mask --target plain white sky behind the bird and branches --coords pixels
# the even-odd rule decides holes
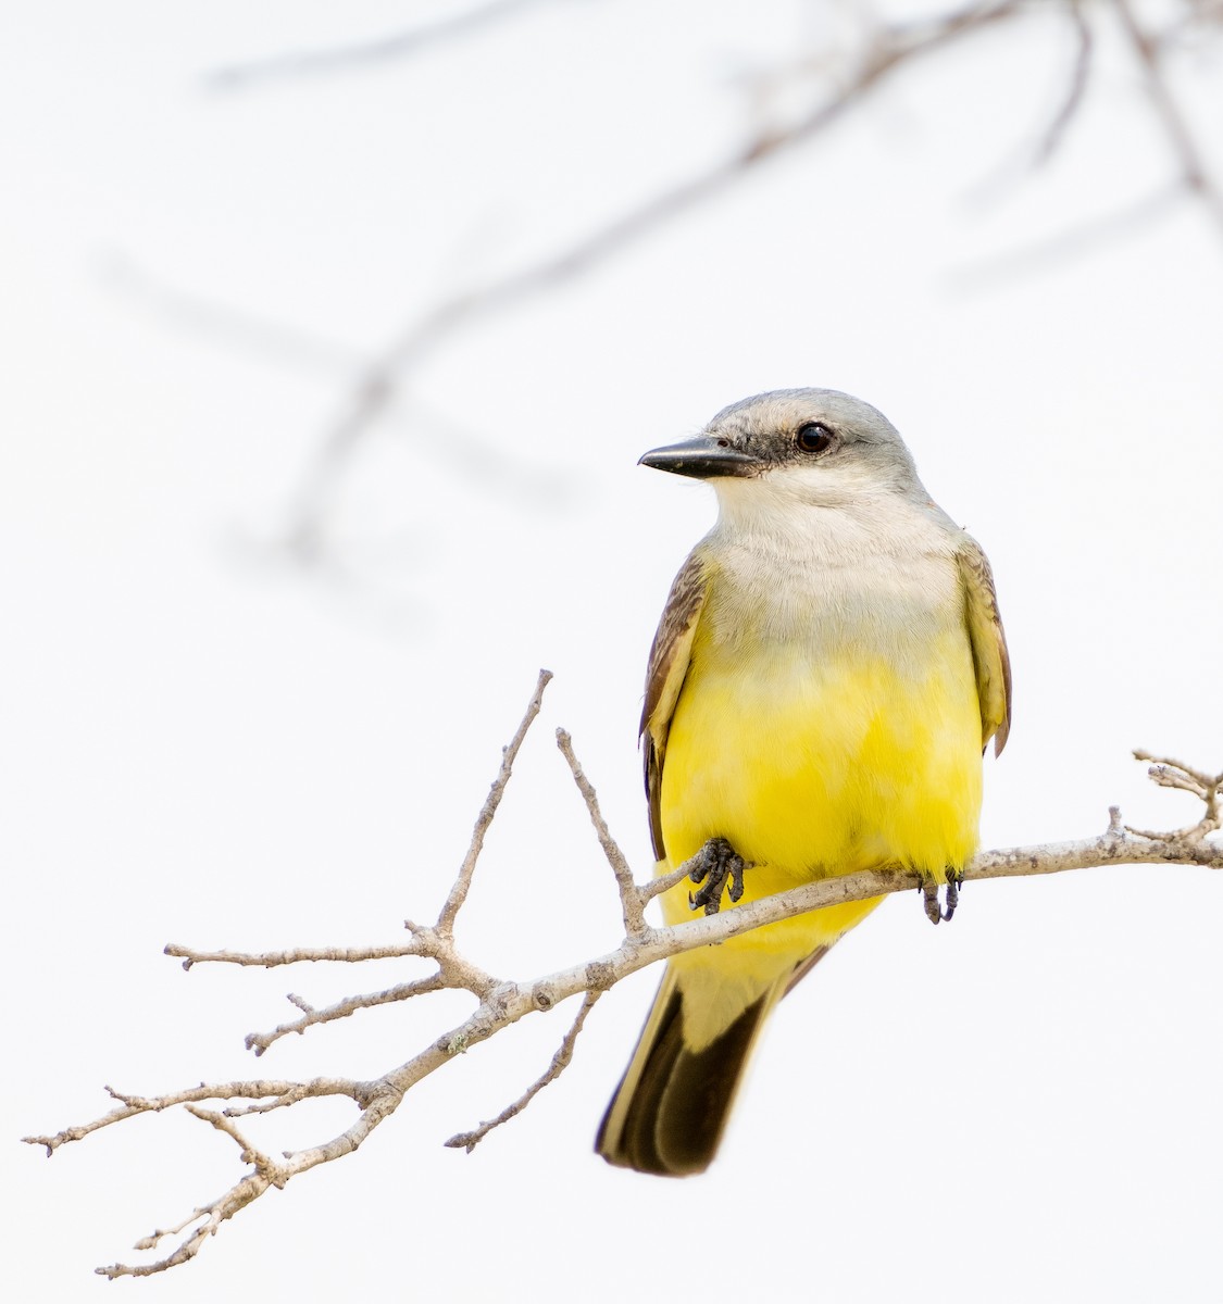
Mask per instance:
[[[648,868],[635,724],[668,584],[712,519],[638,469],[759,390],[877,404],[994,561],[1016,674],[984,845],[1086,836],[1121,803],[1196,819],[1128,748],[1223,765],[1223,235],[1185,201],[1124,48],[1064,150],[1027,160],[1068,25],[923,64],[808,147],[563,289],[439,348],[370,438],[336,570],[271,548],[342,411],[346,359],[743,140],[746,73],[846,30],[820,4],[541,3],[413,60],[216,93],[206,74],[445,14],[349,0],[46,3],[5,20],[0,529],[12,1299],[239,1174],[193,1120],[61,1150],[102,1086],[374,1076],[464,1003],[243,1035],[417,970],[184,974],[164,943],[400,936],[450,882],[540,665],[557,673],[460,939],[518,978],[609,948],[610,875],[552,730]],[[1219,156],[1214,56],[1176,87]],[[1072,250],[1029,257],[1087,227]],[[313,340],[203,329],[181,291]],[[471,432],[459,441],[429,413]],[[546,1064],[527,1020],[428,1081],[356,1155],[199,1260],[112,1287],[218,1297],[1216,1299],[1223,898],[1188,868],[971,885],[949,928],[893,898],[788,1000],[711,1174],[591,1151],[655,983],[472,1155],[451,1133]],[[293,1111],[271,1149],[347,1125]]]

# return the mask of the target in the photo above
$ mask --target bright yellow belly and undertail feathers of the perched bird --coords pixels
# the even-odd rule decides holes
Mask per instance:
[[[966,634],[947,630],[906,656],[853,648],[815,657],[772,644],[750,660],[711,655],[698,632],[662,772],[668,862],[725,837],[752,867],[751,901],[877,866],[945,879],[977,849],[980,711]],[[879,898],[832,906],[671,961],[701,988],[712,1041],[746,1004]],[[664,896],[669,922],[691,918],[683,884]],[[696,1003],[691,1003],[696,1008]]]

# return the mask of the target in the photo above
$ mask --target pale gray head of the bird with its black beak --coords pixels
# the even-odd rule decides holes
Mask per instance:
[[[641,458],[647,467],[709,480],[728,498],[841,506],[866,497],[924,496],[896,426],[837,390],[773,390],[722,408],[695,438]]]

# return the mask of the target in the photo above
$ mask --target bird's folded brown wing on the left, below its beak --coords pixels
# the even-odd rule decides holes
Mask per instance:
[[[661,861],[666,852],[662,846],[662,815],[660,801],[662,795],[662,759],[666,755],[666,737],[671,728],[671,716],[679,700],[688,673],[688,657],[692,653],[692,638],[696,622],[705,602],[708,572],[698,553],[683,563],[671,584],[658,632],[649,649],[649,669],[645,672],[645,705],[641,708],[641,741],[645,751],[645,797],[649,801],[649,833],[655,844],[655,855]]]

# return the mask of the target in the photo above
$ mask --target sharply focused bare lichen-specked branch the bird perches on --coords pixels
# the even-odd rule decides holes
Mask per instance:
[[[510,1106],[493,1120],[479,1128],[451,1137],[447,1145],[471,1150],[493,1128],[514,1118],[549,1082],[555,1081],[572,1059],[578,1037],[587,1015],[593,1008],[601,992],[608,991],[622,978],[636,973],[647,965],[656,964],[669,956],[696,947],[716,945],[730,938],[739,936],[751,928],[765,923],[788,919],[823,906],[861,901],[867,897],[883,896],[891,892],[923,889],[922,876],[909,871],[877,868],[861,874],[845,875],[807,883],[803,887],[773,897],[765,897],[748,905],[734,906],[715,914],[703,914],[686,923],[665,928],[653,928],[644,922],[645,904],[658,895],[660,889],[678,884],[685,876],[699,878],[700,855],[681,866],[673,874],[658,882],[638,884],[627,874],[623,853],[615,844],[602,815],[593,786],[585,777],[572,748],[572,741],[563,730],[558,730],[558,746],[570,765],[578,792],[598,833],[600,845],[613,868],[617,893],[621,900],[621,913],[625,932],[619,945],[592,960],[570,965],[555,973],[527,981],[506,981],[485,973],[465,958],[454,941],[454,925],[467,901],[468,888],[475,872],[484,835],[495,815],[505,786],[511,776],[518,747],[540,709],[540,699],[549,679],[548,672],[540,673],[538,683],[528,704],[527,712],[511,743],[505,748],[502,767],[489,793],[489,798],[476,820],[472,845],[455,879],[446,904],[433,925],[408,922],[405,926],[411,939],[394,948],[336,948],[322,951],[317,948],[301,951],[279,951],[263,956],[244,955],[228,951],[192,951],[175,947],[172,953],[183,956],[186,965],[193,964],[233,964],[274,966],[291,962],[332,961],[340,964],[361,962],[370,958],[385,958],[389,955],[415,957],[432,961],[435,971],[425,978],[408,982],[400,988],[383,992],[368,992],[347,998],[331,1007],[329,1018],[342,1018],[357,1009],[369,1009],[386,1004],[389,999],[405,999],[408,995],[425,995],[433,991],[467,991],[476,998],[476,1009],[456,1028],[430,1038],[416,1055],[390,1068],[386,1073],[369,1081],[343,1077],[316,1077],[306,1081],[284,1081],[258,1078],[219,1084],[198,1084],[179,1091],[158,1097],[141,1097],[107,1089],[117,1108],[83,1125],[64,1128],[51,1136],[30,1136],[25,1140],[31,1145],[46,1148],[47,1154],[70,1141],[81,1141],[91,1133],[123,1123],[142,1114],[156,1114],[163,1110],[183,1107],[192,1116],[210,1128],[227,1136],[239,1148],[240,1159],[248,1171],[216,1200],[201,1205],[186,1218],[171,1227],[154,1231],[137,1243],[137,1249],[154,1251],[166,1236],[183,1236],[175,1248],[163,1257],[141,1265],[111,1264],[98,1271],[108,1278],[147,1277],[166,1271],[180,1264],[189,1262],[203,1247],[207,1239],[246,1205],[271,1188],[283,1188],[293,1178],[310,1168],[331,1163],[352,1154],[373,1133],[373,1131],[403,1103],[405,1094],[437,1069],[450,1064],[464,1051],[480,1042],[512,1026],[529,1013],[554,1009],[572,996],[582,996],[578,1015],[561,1041],[549,1068]],[[1202,801],[1206,814],[1198,823],[1186,829],[1171,833],[1140,833],[1121,824],[1120,812],[1110,812],[1108,828],[1098,837],[1077,842],[1057,842],[1042,846],[1010,848],[1000,852],[984,852],[975,857],[965,868],[962,882],[1016,878],[1035,874],[1057,874],[1064,870],[1086,868],[1104,865],[1197,865],[1203,868],[1223,870],[1223,845],[1207,841],[1207,835],[1220,823],[1220,789],[1223,773],[1207,775],[1170,759],[1136,754],[1140,759],[1155,762],[1150,775],[1160,786],[1176,788]],[[171,949],[171,948],[167,948]],[[396,995],[391,996],[394,992]],[[246,1045],[261,1054],[284,1031],[304,1033],[316,1022],[314,1012],[299,996],[291,1001],[305,1011],[305,1018],[295,1025],[275,1029],[266,1034],[252,1034]],[[289,1110],[306,1101],[342,1095],[349,1098],[357,1107],[357,1119],[339,1134],[302,1150],[283,1151],[279,1158],[265,1153],[250,1141],[235,1121],[249,1119],[257,1125],[258,1116],[276,1110]],[[205,1102],[235,1102],[223,1110],[209,1110]],[[185,1235],[183,1235],[185,1234]]]

